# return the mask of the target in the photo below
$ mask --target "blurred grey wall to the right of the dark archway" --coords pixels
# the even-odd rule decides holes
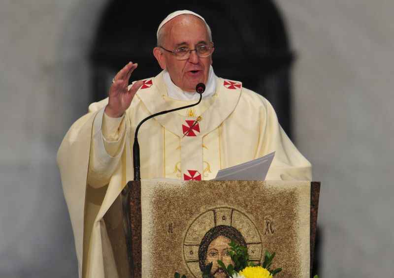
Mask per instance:
[[[392,277],[394,2],[276,2],[298,54],[296,144],[322,181],[322,276]]]

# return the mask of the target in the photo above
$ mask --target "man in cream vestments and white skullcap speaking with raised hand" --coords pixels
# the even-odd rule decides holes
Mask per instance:
[[[275,152],[267,180],[311,180],[311,164],[298,152],[263,96],[240,81],[217,77],[209,26],[198,14],[169,14],[157,31],[153,55],[163,71],[129,85],[138,64],[113,78],[108,98],[68,130],[58,165],[75,238],[80,277],[105,277],[102,217],[133,179],[136,125],[156,112],[195,107],[149,120],[139,130],[141,178],[213,179],[220,169]],[[82,268],[83,262],[83,268]]]

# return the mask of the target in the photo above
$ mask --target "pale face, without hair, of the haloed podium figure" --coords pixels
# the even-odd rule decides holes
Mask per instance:
[[[230,239],[219,236],[215,238],[208,246],[206,253],[205,265],[212,262],[211,275],[215,278],[226,278],[227,275],[224,270],[219,266],[218,260],[221,260],[225,266],[229,264],[234,265],[229,255],[229,243]]]

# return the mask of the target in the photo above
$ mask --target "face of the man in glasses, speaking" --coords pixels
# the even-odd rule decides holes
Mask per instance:
[[[193,15],[180,15],[167,22],[163,47],[174,50],[179,47],[195,49],[201,44],[209,44],[209,36],[202,20]],[[160,66],[167,69],[172,82],[187,92],[195,92],[200,82],[206,84],[212,56],[200,58],[192,51],[187,60],[177,60],[174,55],[155,48],[154,55]]]

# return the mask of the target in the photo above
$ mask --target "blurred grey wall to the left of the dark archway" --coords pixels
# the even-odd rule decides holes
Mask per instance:
[[[87,109],[104,2],[0,2],[0,277],[77,276],[55,158]]]

